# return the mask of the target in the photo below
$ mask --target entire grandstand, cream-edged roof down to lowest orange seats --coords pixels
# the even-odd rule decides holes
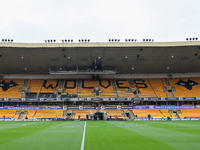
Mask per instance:
[[[199,49],[199,41],[0,42],[1,118],[197,119]]]

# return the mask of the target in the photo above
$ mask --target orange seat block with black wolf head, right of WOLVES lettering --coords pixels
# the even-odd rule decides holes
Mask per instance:
[[[174,78],[169,83],[175,87],[174,97],[200,96],[200,78]]]

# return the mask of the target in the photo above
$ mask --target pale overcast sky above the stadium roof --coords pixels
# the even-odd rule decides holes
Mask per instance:
[[[199,0],[0,0],[0,41],[200,39]]]

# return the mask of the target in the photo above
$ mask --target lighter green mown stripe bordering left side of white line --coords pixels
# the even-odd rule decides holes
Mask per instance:
[[[31,134],[13,138],[0,145],[0,149],[29,150],[80,150],[84,122],[43,122],[40,125],[18,128],[20,132],[33,131]],[[26,128],[26,129],[25,129]],[[41,129],[42,130],[38,130]]]

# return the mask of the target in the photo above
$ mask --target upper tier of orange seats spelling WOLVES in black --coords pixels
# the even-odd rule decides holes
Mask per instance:
[[[80,98],[199,97],[199,83],[200,77],[174,79],[99,79],[98,81],[88,79],[6,79],[1,80],[0,98],[50,98],[57,97],[58,95],[62,98],[66,94],[75,94]],[[22,93],[24,93],[24,97]]]

